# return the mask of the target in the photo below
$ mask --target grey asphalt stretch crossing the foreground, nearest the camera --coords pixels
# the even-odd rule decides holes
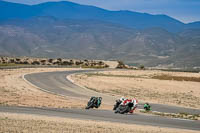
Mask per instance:
[[[145,116],[140,114],[121,115],[108,110],[81,110],[81,109],[51,109],[29,107],[0,107],[0,112],[36,114],[56,116],[62,118],[75,118],[81,120],[110,121],[139,125],[152,125],[160,127],[200,130],[199,121],[170,119],[159,116]]]

